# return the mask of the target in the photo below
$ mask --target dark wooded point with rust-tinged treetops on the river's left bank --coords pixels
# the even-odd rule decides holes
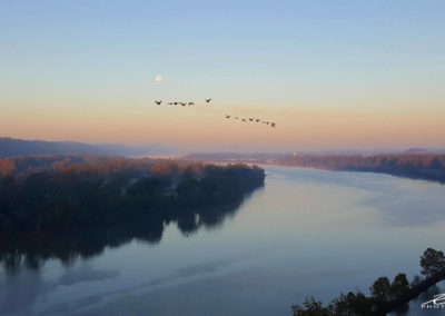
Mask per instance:
[[[263,186],[247,165],[214,166],[100,156],[0,159],[0,233],[167,219],[172,211],[240,200]]]

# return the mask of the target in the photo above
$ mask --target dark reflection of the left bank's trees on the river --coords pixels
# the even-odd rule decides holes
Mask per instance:
[[[16,274],[21,268],[38,270],[48,259],[59,259],[69,266],[78,258],[98,256],[106,247],[117,248],[134,239],[157,244],[169,223],[176,223],[185,235],[195,233],[200,227],[219,227],[227,216],[233,216],[238,210],[240,203],[221,207],[167,210],[157,216],[138,218],[134,223],[99,229],[1,238],[0,263],[7,274]]]

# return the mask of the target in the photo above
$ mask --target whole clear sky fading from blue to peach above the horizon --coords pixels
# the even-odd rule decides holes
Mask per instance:
[[[444,33],[443,0],[0,0],[0,137],[444,149]]]

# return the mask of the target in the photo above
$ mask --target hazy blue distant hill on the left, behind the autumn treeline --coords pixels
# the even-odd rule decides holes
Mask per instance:
[[[116,156],[148,156],[172,154],[177,150],[162,145],[127,146],[119,144],[85,144],[76,141],[44,141],[23,140],[13,138],[0,138],[0,158],[28,156],[28,155],[55,155],[55,154],[92,154]]]

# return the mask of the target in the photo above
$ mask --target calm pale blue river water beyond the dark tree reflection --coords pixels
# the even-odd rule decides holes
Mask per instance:
[[[445,186],[266,169],[264,188],[197,229],[170,224],[161,238],[105,243],[63,261],[50,254],[11,267],[3,258],[0,314],[290,315],[306,295],[327,302],[368,294],[379,276],[412,277],[425,248],[445,248]],[[405,315],[437,314],[419,309],[431,295]]]

